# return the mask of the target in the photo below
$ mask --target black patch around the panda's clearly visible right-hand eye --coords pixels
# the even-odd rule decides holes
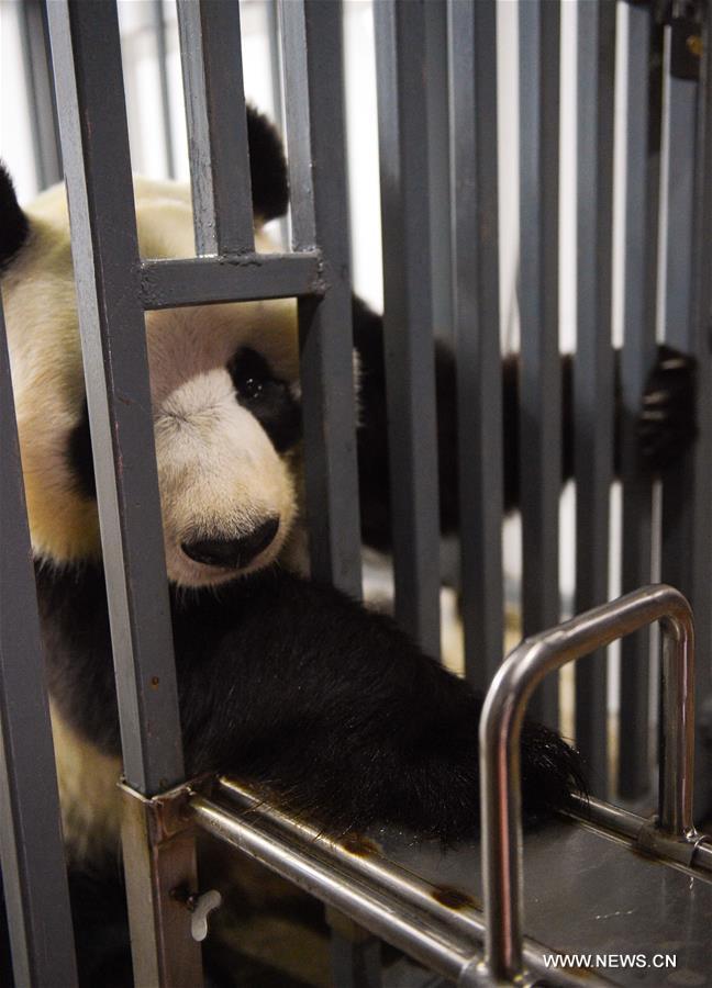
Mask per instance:
[[[265,429],[277,452],[299,440],[301,411],[286,381],[276,378],[256,350],[243,347],[227,364],[235,397]]]

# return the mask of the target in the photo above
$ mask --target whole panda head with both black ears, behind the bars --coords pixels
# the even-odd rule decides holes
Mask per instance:
[[[248,113],[257,250],[287,207],[283,153]],[[143,257],[193,251],[190,194],[137,180]],[[30,528],[55,564],[100,554],[64,187],[23,212],[0,175],[0,270]],[[169,579],[222,583],[296,535],[300,391],[293,300],[149,312],[146,338]]]

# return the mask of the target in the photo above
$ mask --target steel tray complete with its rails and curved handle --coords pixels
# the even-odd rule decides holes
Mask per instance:
[[[520,731],[529,698],[545,675],[656,620],[658,816],[578,799],[576,815],[530,829],[524,841]],[[712,843],[691,816],[692,673],[690,608],[667,586],[522,642],[482,711],[481,845],[444,850],[393,829],[332,840],[229,778],[183,787],[169,806],[459,986],[711,984]]]

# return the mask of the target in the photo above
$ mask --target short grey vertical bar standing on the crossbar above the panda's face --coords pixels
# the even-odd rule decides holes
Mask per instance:
[[[178,29],[196,250],[247,254],[255,237],[240,4],[178,0]]]

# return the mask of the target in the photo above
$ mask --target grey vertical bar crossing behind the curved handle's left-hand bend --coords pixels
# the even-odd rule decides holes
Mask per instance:
[[[558,624],[561,491],[559,356],[560,4],[519,5],[520,46],[520,503],[525,636]],[[558,725],[558,676],[531,704]]]

